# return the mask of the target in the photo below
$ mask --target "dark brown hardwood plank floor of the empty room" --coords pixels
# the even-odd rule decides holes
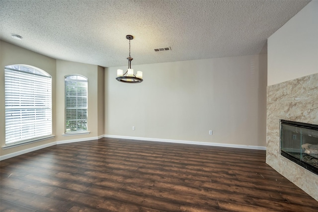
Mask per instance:
[[[1,161],[1,212],[318,212],[265,151],[100,139]]]

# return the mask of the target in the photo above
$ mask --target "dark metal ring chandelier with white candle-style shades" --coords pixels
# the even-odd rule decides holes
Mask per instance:
[[[128,69],[123,74],[123,70],[117,70],[117,77],[116,79],[120,82],[127,82],[127,83],[140,83],[143,81],[143,72],[137,71],[137,74],[134,75],[134,70],[131,68],[131,61],[133,58],[130,56],[130,40],[133,40],[134,37],[132,35],[126,35],[126,38],[129,40],[129,57],[128,60]]]

